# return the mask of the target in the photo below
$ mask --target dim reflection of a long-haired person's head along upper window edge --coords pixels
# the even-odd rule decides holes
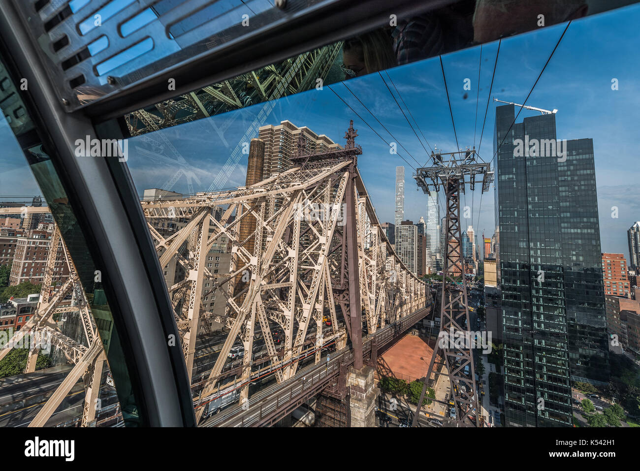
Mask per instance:
[[[364,76],[395,65],[391,36],[385,28],[348,39],[342,46],[340,68],[345,79]]]

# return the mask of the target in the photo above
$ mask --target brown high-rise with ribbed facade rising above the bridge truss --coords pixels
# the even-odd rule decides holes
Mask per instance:
[[[288,120],[276,126],[260,126],[258,138],[264,142],[262,179],[291,168],[291,157],[298,153],[298,141],[301,136],[306,141],[305,152],[320,152],[341,147],[324,134],[316,134],[307,126],[298,127]]]

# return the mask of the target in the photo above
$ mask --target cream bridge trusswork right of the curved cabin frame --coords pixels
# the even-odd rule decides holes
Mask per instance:
[[[158,230],[152,231],[156,247],[163,250],[159,253],[162,266],[172,261],[184,264],[184,257],[180,259],[184,243],[190,252],[196,252],[196,224],[199,234],[205,234],[205,227],[211,234],[206,245],[202,245],[204,239],[198,239],[198,255],[190,257],[185,266],[191,278],[196,264],[200,266],[218,237],[227,237],[231,246],[228,273],[217,278],[216,293],[225,296],[225,314],[208,313],[230,331],[211,371],[202,376],[204,381],[192,384],[202,386],[195,399],[196,420],[202,419],[205,404],[220,394],[223,387],[218,381],[237,340],[245,350],[235,388],[246,404],[250,401],[248,385],[262,371],[255,370],[252,362],[255,332],[262,331],[266,344],[270,363],[266,369],[278,383],[284,383],[297,377],[301,360],[321,362],[328,344],[344,348],[347,335],[354,349],[355,368],[362,368],[363,321],[374,334],[426,304],[424,282],[398,259],[380,227],[356,166],[356,156],[362,154],[353,143],[356,135],[350,127],[345,148],[317,154],[307,154],[301,143],[292,168],[252,186],[141,202],[150,226],[165,218],[180,218],[185,223],[166,239]],[[212,218],[214,208],[225,206],[220,221]],[[211,224],[194,222],[202,217],[210,218]],[[251,223],[243,224],[244,220]],[[393,276],[388,275],[387,267],[392,267]],[[250,273],[250,281],[239,282],[245,271]],[[200,276],[204,275],[198,268]],[[191,372],[193,360],[189,356],[194,353],[191,346],[195,346],[198,325],[186,315],[180,299],[189,296],[195,312],[197,300],[205,293],[193,282],[167,280],[167,284],[179,328],[189,332],[182,342]],[[339,328],[342,319],[335,312],[335,303],[342,306],[346,332]],[[323,326],[325,311],[331,319],[328,329]],[[284,332],[280,353],[271,335],[273,326]],[[190,347],[184,345],[186,340]]]

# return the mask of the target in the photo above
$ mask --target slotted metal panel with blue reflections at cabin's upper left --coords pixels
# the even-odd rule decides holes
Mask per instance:
[[[328,0],[14,0],[72,111]]]

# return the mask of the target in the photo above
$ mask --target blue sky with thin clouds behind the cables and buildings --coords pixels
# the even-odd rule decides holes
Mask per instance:
[[[640,123],[638,24],[640,6],[637,5],[574,21],[527,101],[528,105],[538,108],[559,110],[556,115],[559,139],[593,139],[602,251],[624,253],[625,257],[628,257],[626,230],[634,221],[640,220],[636,184],[640,177],[636,163],[637,125]],[[492,98],[522,103],[563,29],[564,24],[503,40]],[[486,44],[482,48],[476,147],[480,141],[496,51],[497,42]],[[442,58],[460,147],[474,144],[479,54],[478,46]],[[445,151],[454,150],[456,142],[438,58],[397,67],[388,70],[388,74],[431,147],[437,145]],[[387,78],[384,72],[383,76]],[[468,92],[463,90],[465,78],[471,80],[471,90]],[[611,90],[612,78],[618,79],[619,90]],[[406,147],[420,164],[426,162],[427,156],[422,145],[406,124],[378,74],[351,79],[346,84],[394,134],[395,141]],[[332,84],[331,87],[385,140],[394,141],[342,84]],[[392,86],[391,88],[393,90]],[[463,97],[465,92],[468,94],[466,99]],[[149,136],[165,148],[167,141],[170,141],[188,166],[154,161],[138,150],[140,138],[132,139],[129,143],[128,164],[138,193],[141,194],[144,188],[163,186],[180,168],[187,168],[192,172],[190,175],[194,191],[206,191],[234,148],[244,140],[244,132],[262,107],[264,104],[257,104],[207,120],[164,129],[160,131],[164,142],[158,135],[154,136],[158,133]],[[479,149],[485,160],[493,156],[494,110],[495,102],[491,100]],[[525,116],[536,114],[524,109],[518,122]],[[285,119],[298,126],[306,125],[341,144],[344,143],[344,131],[349,119],[353,119],[359,133],[356,142],[364,150],[364,154],[358,159],[360,172],[380,220],[394,220],[395,173],[398,165],[405,167],[405,219],[417,222],[420,216],[426,217],[426,195],[416,190],[417,186],[411,178],[413,168],[410,164],[417,166],[415,161],[401,147],[398,147],[399,154],[410,164],[399,156],[391,155],[388,146],[328,86],[324,86],[323,90],[312,90],[279,100],[264,124],[278,124]],[[220,128],[227,129],[218,132],[216,127],[218,131]],[[0,129],[0,138],[3,131]],[[257,132],[252,137],[257,137]],[[429,150],[426,144],[425,147]],[[7,147],[3,145],[3,148]],[[0,157],[0,161],[4,160]],[[25,182],[22,179],[18,185],[15,183],[15,174],[19,169],[13,168],[5,173],[4,169],[8,166],[3,163],[2,167],[0,194],[32,194],[31,188],[35,182]],[[26,170],[26,166],[23,170]],[[246,156],[242,156],[222,186],[227,188],[244,184],[245,172]],[[179,176],[173,189],[188,193],[187,178]],[[480,198],[479,191],[475,195],[468,191],[462,203],[473,208],[476,234],[480,237],[484,230],[484,234],[490,237],[495,227],[493,188],[483,196],[481,210]],[[611,218],[612,206],[618,207],[617,219]],[[470,223],[463,221],[465,227]]]

